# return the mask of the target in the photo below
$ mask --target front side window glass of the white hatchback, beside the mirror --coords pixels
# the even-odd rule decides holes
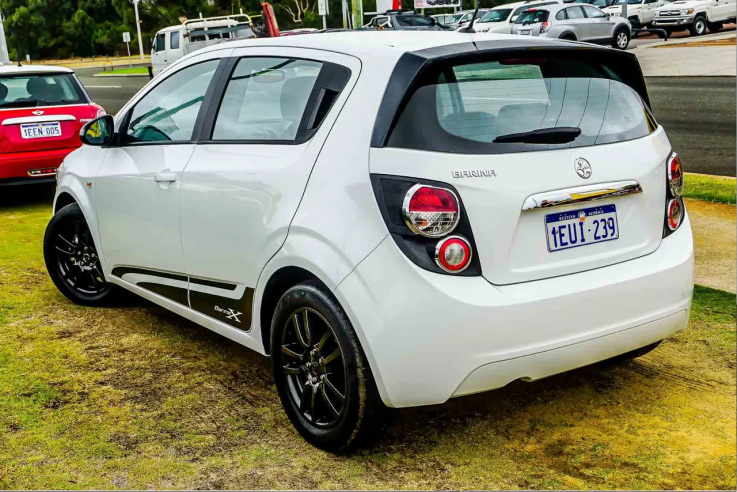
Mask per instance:
[[[192,139],[197,113],[220,60],[189,66],[171,75],[136,103],[126,130],[132,142]]]

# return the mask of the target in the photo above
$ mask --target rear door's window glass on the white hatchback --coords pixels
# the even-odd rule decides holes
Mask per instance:
[[[228,81],[213,140],[294,141],[322,63],[242,58]]]

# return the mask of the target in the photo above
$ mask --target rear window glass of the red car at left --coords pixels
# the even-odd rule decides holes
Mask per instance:
[[[0,77],[0,109],[86,102],[72,74]]]

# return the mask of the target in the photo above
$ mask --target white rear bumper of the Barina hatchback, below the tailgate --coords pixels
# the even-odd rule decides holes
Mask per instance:
[[[693,265],[688,217],[649,255],[507,286],[421,270],[387,237],[335,294],[384,402],[406,407],[543,378],[683,330]]]

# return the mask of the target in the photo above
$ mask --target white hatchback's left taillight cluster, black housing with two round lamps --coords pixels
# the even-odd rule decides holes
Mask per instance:
[[[481,275],[468,214],[453,186],[386,174],[372,174],[371,183],[384,223],[407,259],[433,273]]]

